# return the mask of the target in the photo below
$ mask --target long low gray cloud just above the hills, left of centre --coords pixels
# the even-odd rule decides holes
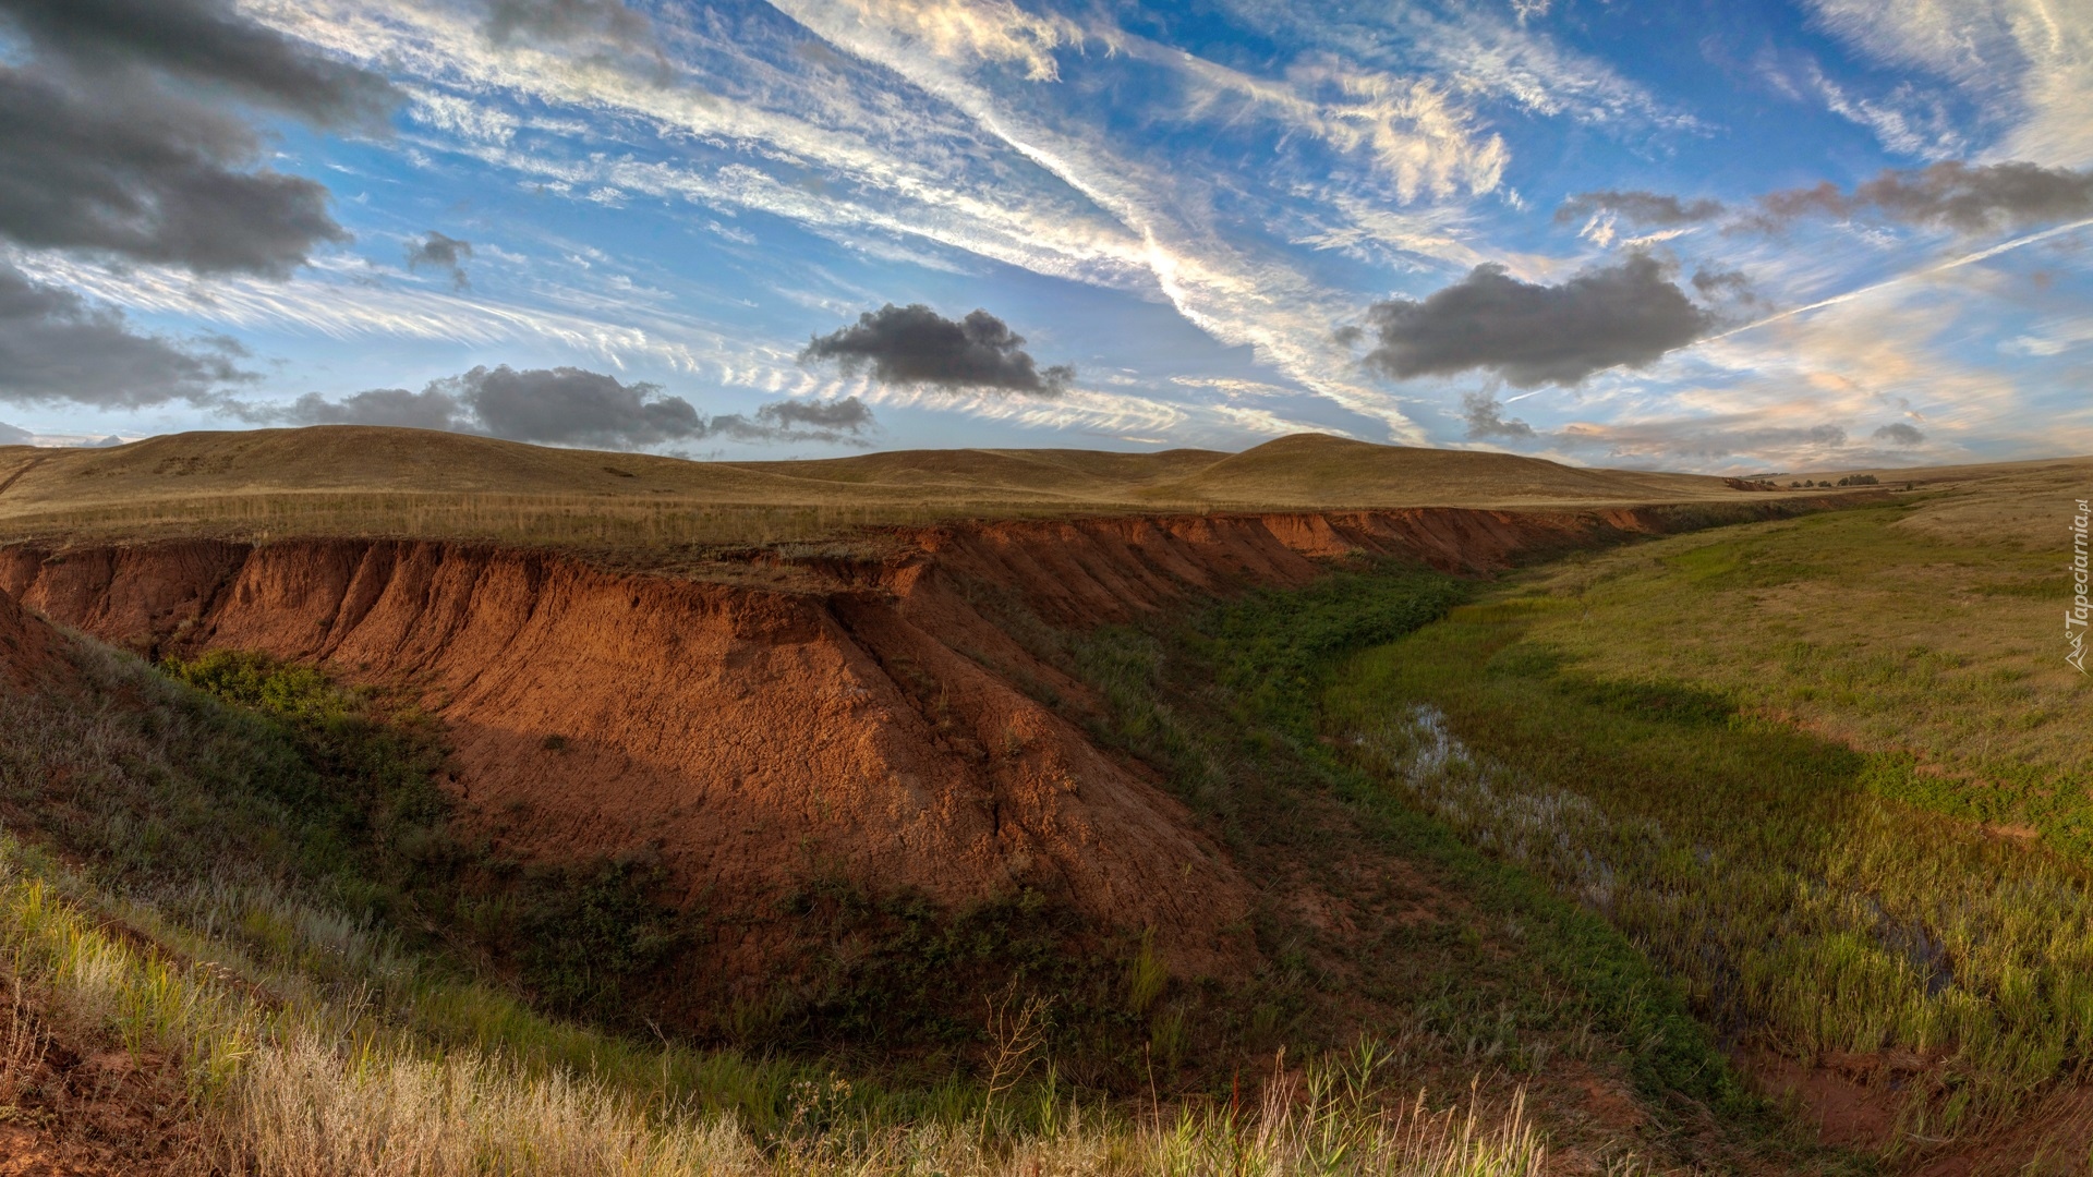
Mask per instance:
[[[287,406],[230,404],[228,413],[276,425],[400,425],[486,434],[513,442],[630,450],[724,438],[735,442],[852,442],[875,427],[858,398],[779,400],[753,415],[705,419],[657,383],[624,383],[586,369],[477,367],[421,392],[377,387],[339,400],[306,394]]]

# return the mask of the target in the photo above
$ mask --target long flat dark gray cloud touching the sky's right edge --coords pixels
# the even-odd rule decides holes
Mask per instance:
[[[1823,182],[1815,188],[1769,193],[1741,228],[1777,230],[1808,216],[1880,216],[1898,224],[1988,232],[2093,216],[2093,172],[2039,163],[1959,161],[1907,172],[1886,170],[1852,193]]]

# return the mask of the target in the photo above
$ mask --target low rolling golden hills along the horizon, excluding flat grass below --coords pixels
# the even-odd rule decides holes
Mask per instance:
[[[94,450],[6,446],[0,484],[0,519],[157,498],[306,492],[1070,509],[1593,507],[1739,494],[1718,478],[1580,469],[1325,434],[1279,438],[1239,454],[1040,448],[687,461],[368,425],[172,434]]]

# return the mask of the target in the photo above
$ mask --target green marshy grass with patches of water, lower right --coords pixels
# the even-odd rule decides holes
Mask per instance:
[[[1645,626],[1697,605],[1637,599]],[[1603,915],[1727,1039],[1917,1060],[1905,1133],[2001,1123],[2093,1060],[2080,867],[1915,808],[1984,815],[1911,756],[1754,716],[1718,683],[1595,670],[1543,637],[1576,609],[1492,601],[1363,653],[1325,695],[1331,731],[1465,844]]]

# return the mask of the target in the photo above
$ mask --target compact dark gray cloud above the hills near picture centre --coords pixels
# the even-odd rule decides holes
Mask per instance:
[[[1023,343],[1023,335],[986,310],[952,320],[923,304],[890,302],[867,310],[852,327],[808,341],[800,362],[835,360],[846,373],[871,369],[881,383],[1034,396],[1065,392],[1076,369],[1040,369]]]

